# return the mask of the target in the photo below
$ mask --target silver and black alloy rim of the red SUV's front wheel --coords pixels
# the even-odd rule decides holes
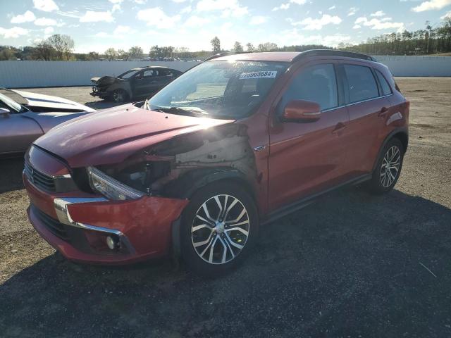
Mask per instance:
[[[207,263],[235,259],[249,237],[249,214],[239,199],[216,195],[199,207],[191,225],[192,246]]]

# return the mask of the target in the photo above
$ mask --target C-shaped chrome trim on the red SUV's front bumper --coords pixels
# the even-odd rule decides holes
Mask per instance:
[[[109,229],[107,227],[97,227],[96,225],[89,225],[85,223],[79,223],[70,217],[70,213],[68,211],[68,205],[70,204],[85,204],[106,201],[109,200],[105,199],[104,197],[93,197],[93,198],[65,197],[61,199],[54,199],[54,207],[56,211],[56,216],[58,217],[58,220],[61,223],[65,225],[70,225],[71,227],[78,227],[84,230],[92,230],[97,232],[105,232],[107,234],[114,234],[117,237],[119,237],[120,242],[127,247],[130,253],[135,253],[135,249],[133,249],[133,246],[128,241],[128,238],[120,230]]]

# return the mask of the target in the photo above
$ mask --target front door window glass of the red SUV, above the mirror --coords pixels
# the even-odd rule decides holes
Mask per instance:
[[[314,65],[302,70],[291,82],[282,100],[282,107],[292,100],[314,101],[321,111],[337,107],[337,80],[333,65]]]

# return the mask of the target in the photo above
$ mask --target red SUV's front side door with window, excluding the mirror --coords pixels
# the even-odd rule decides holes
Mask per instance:
[[[333,63],[310,63],[297,71],[283,92],[276,114],[281,115],[285,105],[297,99],[318,103],[321,118],[306,123],[273,119],[269,127],[270,211],[326,189],[344,175],[349,116]]]

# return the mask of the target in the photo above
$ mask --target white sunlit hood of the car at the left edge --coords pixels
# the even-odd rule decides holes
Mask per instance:
[[[23,92],[21,90],[11,89],[11,92],[16,92],[20,96],[23,96],[27,100],[27,108],[33,111],[33,108],[45,108],[46,110],[51,109],[51,111],[87,111],[92,113],[95,111],[93,108],[78,104],[77,102],[63,99],[62,97],[50,96],[44,94]]]

